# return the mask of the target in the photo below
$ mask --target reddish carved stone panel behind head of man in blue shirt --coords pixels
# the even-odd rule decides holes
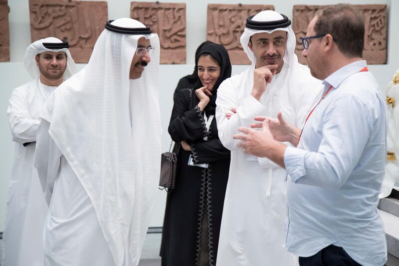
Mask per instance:
[[[294,5],[292,28],[296,35],[295,53],[299,62],[307,64],[306,58],[302,56],[301,37],[306,35],[307,27],[320,8],[327,5]],[[388,10],[386,4],[355,4],[354,7],[362,14],[365,21],[365,46],[363,58],[368,64],[387,63],[387,21]]]

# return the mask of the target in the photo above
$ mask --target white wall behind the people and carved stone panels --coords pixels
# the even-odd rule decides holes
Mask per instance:
[[[162,2],[178,2],[179,0],[163,0]],[[161,65],[160,102],[162,113],[162,145],[163,150],[169,149],[170,137],[168,135],[168,123],[172,110],[172,95],[180,77],[192,73],[194,69],[194,53],[197,46],[206,39],[206,7],[208,3],[238,3],[243,4],[274,4],[275,9],[286,14],[292,19],[292,6],[294,4],[321,4],[320,0],[201,0],[188,1],[187,8],[187,63],[185,65]],[[334,4],[340,0],[325,0],[322,4]],[[352,4],[383,3],[389,6],[389,39],[388,39],[388,63],[386,65],[370,65],[369,69],[376,76],[380,86],[385,87],[392,75],[399,67],[399,0],[352,0]],[[13,88],[30,80],[29,74],[23,67],[23,55],[30,44],[29,9],[28,0],[8,0],[10,7],[10,62],[0,62],[0,231],[4,225],[5,202],[7,199],[8,184],[10,180],[11,166],[14,154],[14,145],[8,128],[6,109],[8,98]],[[128,17],[130,14],[130,0],[108,0],[108,17],[116,19]],[[396,29],[395,29],[396,27]],[[84,64],[79,64],[79,69]],[[234,65],[233,74],[242,72],[246,66]],[[166,194],[159,192],[156,210],[151,226],[162,226]]]

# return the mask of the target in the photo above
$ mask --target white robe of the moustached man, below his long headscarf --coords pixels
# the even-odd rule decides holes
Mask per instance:
[[[35,153],[35,166],[49,203],[43,231],[44,265],[115,265],[93,204],[48,134],[49,126],[44,119],[40,122]],[[126,250],[123,266],[129,265],[135,264]]]

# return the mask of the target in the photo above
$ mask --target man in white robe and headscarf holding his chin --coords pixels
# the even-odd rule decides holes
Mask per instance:
[[[278,111],[300,127],[320,95],[321,81],[298,63],[290,24],[272,10],[248,17],[241,45],[252,65],[217,91],[219,138],[231,150],[217,266],[290,266],[297,261],[282,248],[287,172],[266,158],[244,154],[232,138],[253,117],[277,117]]]

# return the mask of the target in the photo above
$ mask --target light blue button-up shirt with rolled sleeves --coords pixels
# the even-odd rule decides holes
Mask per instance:
[[[387,260],[378,215],[387,155],[385,100],[366,61],[348,64],[324,80],[325,91],[284,163],[288,220],[284,247],[310,257],[334,244],[364,266]]]

